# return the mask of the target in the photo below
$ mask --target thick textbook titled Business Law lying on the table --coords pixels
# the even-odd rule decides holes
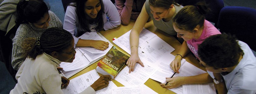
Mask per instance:
[[[117,74],[122,70],[129,55],[113,46],[109,52],[98,62],[96,71],[102,75],[110,75],[115,79]]]

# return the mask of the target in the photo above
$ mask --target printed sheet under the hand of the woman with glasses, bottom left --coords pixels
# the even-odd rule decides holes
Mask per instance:
[[[91,86],[100,76],[96,70],[91,70],[81,76],[77,76],[70,80],[69,85],[62,89],[64,94],[78,94],[85,90],[88,86]],[[111,94],[111,88],[117,87],[112,81],[109,81],[108,87],[96,91],[97,94]]]

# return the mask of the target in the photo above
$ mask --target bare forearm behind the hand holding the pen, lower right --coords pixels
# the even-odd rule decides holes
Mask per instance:
[[[196,76],[186,76],[183,80],[183,84],[204,84],[209,82],[213,82],[213,78],[208,73]]]

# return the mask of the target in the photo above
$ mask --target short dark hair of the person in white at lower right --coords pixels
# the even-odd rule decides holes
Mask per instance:
[[[214,69],[237,65],[243,54],[236,37],[227,34],[210,36],[198,45],[200,60]]]

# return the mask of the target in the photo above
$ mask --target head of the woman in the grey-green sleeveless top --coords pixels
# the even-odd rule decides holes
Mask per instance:
[[[174,0],[149,0],[150,11],[153,17],[160,21],[170,20],[174,14],[174,5],[178,5]]]

